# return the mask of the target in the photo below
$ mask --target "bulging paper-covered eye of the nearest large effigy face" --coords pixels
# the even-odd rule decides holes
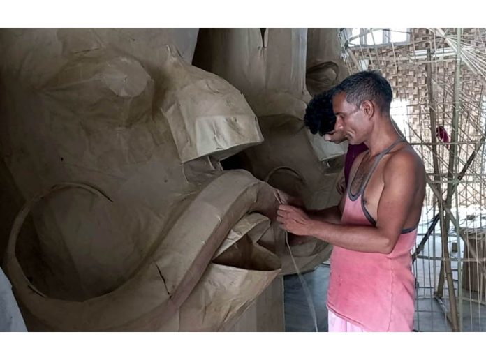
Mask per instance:
[[[43,95],[59,117],[128,127],[150,117],[154,81],[137,60],[95,50],[61,68]]]

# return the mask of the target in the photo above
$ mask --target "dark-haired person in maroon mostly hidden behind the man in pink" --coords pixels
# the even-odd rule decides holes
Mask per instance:
[[[320,93],[309,102],[305,110],[304,123],[311,133],[324,137],[324,140],[339,144],[346,140],[343,128],[335,128],[336,116],[332,110],[332,89]],[[338,191],[342,195],[348,187],[349,172],[351,165],[360,153],[367,150],[366,144],[348,144],[348,151],[344,161],[344,181],[339,181]]]

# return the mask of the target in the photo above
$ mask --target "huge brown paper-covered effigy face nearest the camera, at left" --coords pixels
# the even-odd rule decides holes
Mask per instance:
[[[1,33],[0,153],[26,201],[5,264],[31,329],[221,329],[281,271],[274,191],[219,165],[263,141],[256,115],[189,65],[197,34]]]

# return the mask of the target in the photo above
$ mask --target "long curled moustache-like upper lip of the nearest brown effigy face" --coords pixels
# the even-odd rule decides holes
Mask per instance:
[[[47,297],[27,279],[15,255],[17,235],[32,204],[66,187],[59,184],[34,197],[15,219],[6,252],[6,271],[24,317],[34,329],[60,331],[156,331],[170,319],[198,284],[214,253],[233,225],[258,211],[274,219],[273,188],[244,170],[215,177],[172,225],[161,245],[139,271],[112,292],[84,301]],[[225,191],[221,191],[225,188]],[[219,196],[215,196],[219,194]],[[211,209],[212,211],[207,211]],[[197,220],[197,224],[194,225]],[[189,225],[189,226],[188,226]],[[198,246],[194,246],[198,243]],[[190,247],[189,244],[191,245]],[[184,257],[181,255],[184,254]],[[280,269],[272,269],[275,276]]]

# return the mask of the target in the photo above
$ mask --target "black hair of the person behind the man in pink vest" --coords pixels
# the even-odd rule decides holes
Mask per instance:
[[[314,96],[305,110],[304,123],[311,133],[324,135],[334,130],[336,116],[332,110],[332,91]]]

